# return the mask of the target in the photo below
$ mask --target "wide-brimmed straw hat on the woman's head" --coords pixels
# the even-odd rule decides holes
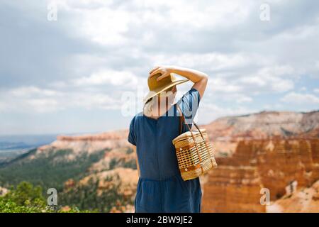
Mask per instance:
[[[157,96],[157,94],[165,92],[177,84],[182,84],[189,81],[189,79],[177,79],[173,74],[169,74],[169,76],[157,81],[157,78],[161,75],[162,74],[157,73],[152,77],[148,77],[147,84],[150,92],[148,92],[147,96],[145,96],[143,99],[144,103],[152,99],[152,97]]]

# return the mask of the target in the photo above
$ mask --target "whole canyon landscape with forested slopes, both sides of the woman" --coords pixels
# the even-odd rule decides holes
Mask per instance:
[[[201,128],[208,131],[218,162],[201,177],[203,212],[289,212],[287,204],[295,198],[317,204],[318,111],[224,117]],[[138,171],[127,136],[127,130],[59,135],[0,165],[0,186],[26,181],[44,191],[56,188],[62,207],[134,211]],[[271,206],[259,202],[263,188],[269,189]],[[298,196],[308,191],[311,198]],[[305,207],[299,210],[319,211]]]

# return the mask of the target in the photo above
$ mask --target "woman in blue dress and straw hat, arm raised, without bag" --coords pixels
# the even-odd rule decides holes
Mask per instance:
[[[171,73],[186,79],[177,80]],[[176,86],[189,80],[194,82],[193,87],[174,103]],[[188,128],[180,125],[179,110],[191,126],[207,81],[203,72],[183,67],[160,66],[150,71],[150,93],[143,112],[131,121],[128,135],[137,152],[140,176],[135,212],[201,211],[199,179],[181,179],[172,140]]]

